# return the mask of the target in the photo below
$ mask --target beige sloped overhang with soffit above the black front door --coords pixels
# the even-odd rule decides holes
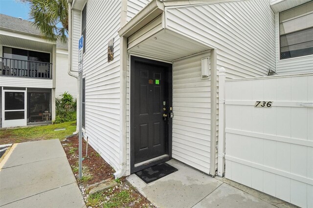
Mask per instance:
[[[166,28],[165,2],[168,1],[152,0],[118,31],[120,37],[127,38],[127,52],[172,62],[211,50],[212,47],[208,45]],[[187,3],[176,0],[175,2],[177,5]],[[192,3],[189,2],[188,5]]]

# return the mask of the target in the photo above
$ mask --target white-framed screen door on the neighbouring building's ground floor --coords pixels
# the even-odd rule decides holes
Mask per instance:
[[[26,125],[26,90],[2,90],[2,127]]]

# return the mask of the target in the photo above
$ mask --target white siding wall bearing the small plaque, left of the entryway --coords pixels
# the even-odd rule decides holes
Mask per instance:
[[[103,4],[102,1],[88,1],[86,27],[88,39],[84,53],[85,137],[89,137],[89,144],[115,170],[119,169],[120,152],[120,40],[117,33],[120,27],[120,9],[121,1],[112,0],[107,4]],[[80,30],[81,26],[78,25],[78,28]],[[112,38],[114,38],[114,60],[108,62],[107,48]]]

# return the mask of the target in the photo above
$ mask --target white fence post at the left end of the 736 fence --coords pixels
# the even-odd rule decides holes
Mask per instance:
[[[217,174],[224,176],[225,172],[225,79],[226,70],[221,67],[219,70],[219,152]]]

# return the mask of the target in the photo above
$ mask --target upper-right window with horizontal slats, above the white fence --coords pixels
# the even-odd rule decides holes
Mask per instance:
[[[313,1],[279,13],[280,59],[313,54]]]

